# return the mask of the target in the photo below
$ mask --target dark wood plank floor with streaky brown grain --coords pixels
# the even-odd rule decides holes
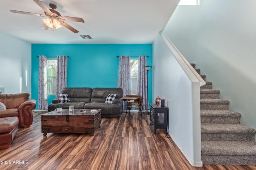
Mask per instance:
[[[42,111],[20,128],[9,149],[0,150],[1,170],[256,170],[256,166],[193,167],[164,130],[154,135],[149,115],[137,112],[102,119],[90,134],[41,133]],[[7,164],[10,163],[10,164]]]

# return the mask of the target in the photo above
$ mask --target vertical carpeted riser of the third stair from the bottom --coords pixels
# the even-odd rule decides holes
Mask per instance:
[[[201,123],[229,123],[239,124],[240,117],[202,117]]]

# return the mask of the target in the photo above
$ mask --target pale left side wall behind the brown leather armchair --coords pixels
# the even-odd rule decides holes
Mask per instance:
[[[31,93],[31,44],[0,32],[0,87],[6,94]],[[27,70],[27,86],[26,86]]]

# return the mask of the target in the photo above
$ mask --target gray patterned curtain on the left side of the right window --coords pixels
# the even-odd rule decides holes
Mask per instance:
[[[119,72],[117,87],[123,89],[123,96],[132,94],[130,56],[119,56]],[[126,102],[123,103],[123,110],[126,109]]]

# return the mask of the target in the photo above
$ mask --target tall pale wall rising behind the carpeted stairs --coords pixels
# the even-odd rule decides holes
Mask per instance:
[[[196,63],[241,124],[256,129],[256,1],[204,0],[178,6],[164,33]]]

